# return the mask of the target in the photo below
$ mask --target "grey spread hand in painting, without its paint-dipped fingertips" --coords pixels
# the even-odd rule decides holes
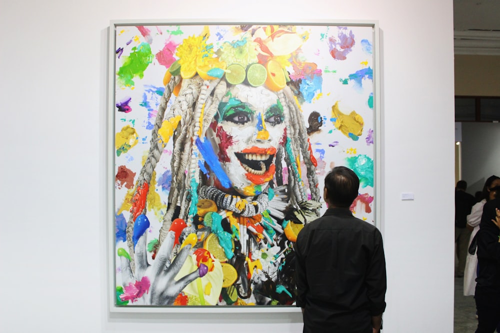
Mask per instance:
[[[196,278],[206,274],[203,267],[175,281],[189,256],[191,245],[184,246],[170,263],[170,255],[175,241],[173,232],[168,232],[163,244],[152,265],[147,263],[146,237],[142,235],[135,245],[135,272],[132,273],[128,256],[118,255],[121,258],[121,274],[124,295],[122,301],[139,301],[145,305],[172,305],[177,295]],[[127,258],[128,257],[128,258]]]

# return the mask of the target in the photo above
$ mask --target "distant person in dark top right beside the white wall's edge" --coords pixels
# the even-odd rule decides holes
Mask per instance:
[[[455,245],[458,267],[455,270],[455,277],[462,278],[465,270],[465,260],[467,257],[468,242],[471,231],[466,228],[467,215],[470,214],[472,206],[476,203],[475,198],[465,192],[467,182],[459,180],[455,188]]]

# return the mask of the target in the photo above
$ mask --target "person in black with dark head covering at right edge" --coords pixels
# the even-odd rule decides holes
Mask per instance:
[[[490,191],[495,199],[484,204],[477,232],[476,333],[500,332],[500,186]]]

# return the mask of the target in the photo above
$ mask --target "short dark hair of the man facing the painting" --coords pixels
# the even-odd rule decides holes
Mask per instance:
[[[359,178],[349,168],[338,166],[331,169],[324,177],[324,187],[328,202],[336,207],[349,207],[356,199],[359,190]]]

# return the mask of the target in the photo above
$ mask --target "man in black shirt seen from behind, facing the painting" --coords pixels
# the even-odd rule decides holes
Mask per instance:
[[[324,184],[328,209],[295,243],[303,332],[377,333],[385,310],[382,236],[349,211],[359,188],[352,170],[335,167]]]

